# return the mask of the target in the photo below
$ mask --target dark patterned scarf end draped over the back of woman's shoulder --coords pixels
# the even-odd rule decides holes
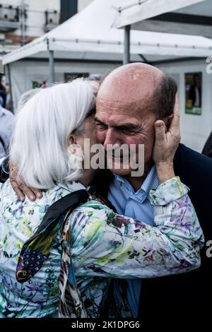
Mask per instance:
[[[23,244],[20,251],[16,267],[16,279],[19,283],[25,283],[42,268],[67,212],[70,208],[73,210],[78,204],[86,203],[88,197],[86,190],[73,191],[48,208],[35,235]]]

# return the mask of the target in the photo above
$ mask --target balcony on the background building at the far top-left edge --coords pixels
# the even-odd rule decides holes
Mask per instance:
[[[19,8],[0,4],[0,32],[13,31],[20,28]]]

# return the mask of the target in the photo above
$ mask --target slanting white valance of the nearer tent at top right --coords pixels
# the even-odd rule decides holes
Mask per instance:
[[[113,26],[121,28],[202,1],[205,0],[122,0],[117,7]]]

